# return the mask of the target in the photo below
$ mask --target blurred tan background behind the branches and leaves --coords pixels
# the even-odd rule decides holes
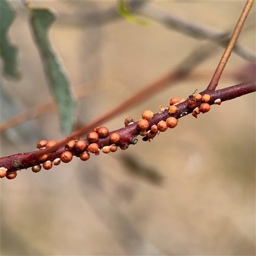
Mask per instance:
[[[145,109],[157,113],[172,97],[201,92],[211,80],[224,49],[216,40],[164,26],[165,15],[227,33],[244,3],[135,2],[136,17],[148,22],[138,26],[116,14],[115,1],[31,2],[58,13],[50,38],[74,86],[80,125],[214,45],[190,77],[101,124],[109,131],[123,127],[127,116],[138,120]],[[12,6],[17,17],[10,38],[19,48],[22,78],[2,79],[2,122],[53,100],[28,10],[19,1]],[[255,57],[255,6],[238,42]],[[218,88],[248,80],[248,65],[248,58],[232,53]],[[2,132],[1,156],[61,138],[58,116],[42,115]],[[181,118],[150,143],[139,138],[128,150],[85,163],[75,158],[1,179],[1,255],[254,254],[255,93],[212,106],[197,119]]]

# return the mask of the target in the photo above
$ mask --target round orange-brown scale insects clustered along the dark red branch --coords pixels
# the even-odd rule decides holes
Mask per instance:
[[[204,94],[203,96],[200,94],[196,95],[189,95],[188,97],[188,108],[193,109],[192,115],[197,118],[197,115],[199,113],[206,113],[210,110],[210,105],[207,103],[211,99],[210,95]],[[187,99],[179,99],[177,97],[173,97],[170,100],[170,106],[163,107],[159,106],[159,113],[163,112],[164,110],[168,109],[168,113],[174,114],[177,111],[177,107],[175,105],[180,104],[181,102],[186,101]],[[202,100],[204,103],[200,105],[200,107],[195,108],[196,103]],[[220,105],[221,100],[217,99],[214,102],[215,104]],[[183,113],[182,113],[183,114]],[[182,116],[182,114],[180,116]],[[184,113],[186,115],[186,113]],[[152,127],[149,127],[148,121],[150,121],[154,113],[150,110],[145,110],[142,113],[142,118],[138,120],[137,122],[137,128],[140,130],[140,136],[143,136],[143,141],[150,141],[152,140],[159,132],[164,132],[168,128],[174,128],[178,124],[177,118],[171,116],[166,121],[161,120],[157,125],[152,125]],[[128,125],[134,124],[134,118],[127,117],[124,120],[125,127]],[[44,162],[42,164],[43,168],[45,170],[50,170],[52,168],[52,165],[59,165],[61,162],[63,163],[69,163],[72,161],[73,156],[79,157],[82,161],[87,161],[90,158],[90,154],[95,154],[95,156],[98,156],[100,154],[100,148],[97,144],[97,141],[99,138],[106,138],[109,136],[109,130],[107,127],[95,127],[92,132],[89,132],[87,135],[87,140],[90,142],[89,145],[87,145],[85,140],[79,140],[79,138],[75,138],[74,140],[70,140],[67,145],[65,145],[65,151],[60,155],[60,158],[56,158],[53,161],[47,161],[48,154],[45,154],[43,156],[38,157],[40,162]],[[118,148],[118,142],[120,141],[120,134],[118,132],[113,132],[110,137],[109,141],[111,143],[110,146],[102,147],[101,150],[103,153],[108,154],[109,152],[116,152]],[[136,137],[134,137],[129,143],[126,145],[119,146],[122,150],[125,150],[129,147],[131,144],[136,144],[138,140]],[[36,148],[39,150],[52,147],[54,145],[57,145],[57,142],[54,140],[46,141],[46,140],[40,140],[37,143]],[[74,153],[74,149],[75,152]],[[73,152],[71,152],[73,151]],[[32,167],[32,171],[37,173],[40,172],[42,166],[40,164],[35,165]],[[7,169],[4,167],[0,168],[0,178],[6,177],[7,179],[15,179],[17,176],[16,171],[7,172]]]

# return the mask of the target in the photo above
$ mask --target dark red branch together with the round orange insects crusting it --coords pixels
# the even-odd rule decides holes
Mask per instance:
[[[54,161],[55,163],[58,164],[60,164],[60,161],[68,163],[72,160],[73,156],[80,157],[82,160],[85,161],[89,159],[90,154],[95,154],[96,156],[99,155],[100,150],[102,150],[102,152],[105,153],[109,153],[111,151],[115,152],[117,147],[120,147],[122,150],[125,150],[130,145],[136,144],[136,142],[138,141],[137,136],[139,135],[143,136],[144,141],[147,141],[154,138],[154,136],[157,135],[157,132],[159,133],[165,131],[167,127],[165,130],[161,130],[161,125],[159,126],[159,124],[168,124],[168,119],[170,120],[170,118],[172,118],[172,121],[178,121],[179,118],[182,118],[191,113],[193,116],[197,117],[199,113],[205,113],[209,111],[210,106],[213,104],[220,105],[221,102],[232,100],[237,97],[241,97],[242,95],[246,95],[248,93],[252,93],[255,91],[256,82],[254,81],[236,84],[234,86],[230,86],[228,88],[223,88],[221,90],[216,91],[205,90],[203,92],[198,93],[195,96],[190,95],[188,99],[184,99],[184,101],[180,100],[180,103],[176,102],[175,104],[173,104],[174,102],[172,102],[171,100],[171,106],[168,106],[166,108],[162,107],[159,113],[150,116],[150,119],[148,118],[147,115],[143,116],[141,120],[147,121],[145,122],[145,124],[148,123],[148,126],[146,125],[147,128],[145,129],[143,128],[143,126],[141,127],[141,123],[143,123],[143,121],[141,122],[141,120],[139,120],[138,122],[132,122],[131,124],[126,123],[125,127],[122,127],[116,131],[108,132],[107,136],[105,136],[104,138],[98,138],[95,142],[92,142],[92,138],[90,138],[91,132],[88,134],[85,140],[78,140],[78,138],[76,138],[77,140],[74,141],[71,140],[70,138],[67,138],[67,140],[70,141],[67,143],[67,145],[65,145],[65,147],[60,147],[55,152],[45,153],[43,155],[44,159],[42,157],[38,157],[38,152],[43,152],[44,150],[47,150],[47,148],[33,152],[19,153],[12,156],[1,157],[0,174],[3,173],[4,170],[6,170],[6,177],[8,177],[8,179],[12,179],[12,177],[16,177],[17,170],[32,167],[34,168],[33,171],[40,171],[40,164],[43,164],[44,166],[45,163],[48,163],[50,166],[52,166],[52,162],[54,163]],[[125,122],[128,122],[128,120],[129,118]],[[173,125],[173,127],[175,127],[176,125],[177,123]],[[154,132],[152,132],[152,127],[154,127]],[[158,129],[156,129],[156,127]],[[171,126],[168,125],[168,127]],[[94,129],[94,131],[95,133],[99,133],[99,127]],[[151,136],[149,136],[149,134],[151,134]],[[86,145],[84,150],[80,150],[81,148],[75,146],[77,141],[80,141],[81,143],[84,143],[84,145]],[[113,143],[113,141],[116,142]],[[92,150],[92,145],[93,147],[96,147],[97,150]],[[111,147],[113,147],[114,150],[111,150]],[[48,149],[52,148],[54,147],[49,147]],[[86,158],[81,157],[84,156],[84,154],[86,154]],[[61,156],[63,157],[61,158]],[[67,156],[70,157],[67,158]]]

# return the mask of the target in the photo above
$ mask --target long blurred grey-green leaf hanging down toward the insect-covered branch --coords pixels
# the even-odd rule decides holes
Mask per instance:
[[[76,99],[67,73],[61,65],[60,58],[52,49],[48,37],[49,27],[55,20],[55,16],[49,9],[31,6],[28,8],[31,11],[31,26],[44,64],[45,76],[58,106],[61,131],[64,135],[68,135],[74,125]]]

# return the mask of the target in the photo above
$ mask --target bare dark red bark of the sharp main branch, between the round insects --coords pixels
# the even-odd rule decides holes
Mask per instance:
[[[216,104],[216,100],[218,102],[224,102],[226,100],[232,100],[237,97],[241,97],[242,95],[246,95],[248,93],[252,93],[256,91],[256,82],[247,82],[247,83],[241,83],[236,84],[234,86],[230,86],[228,88],[224,88],[221,90],[216,91],[203,91],[200,94],[203,96],[205,94],[208,94],[210,96],[209,102],[207,102],[209,105]],[[200,107],[202,104],[202,100],[199,102],[196,102],[194,108]],[[152,120],[149,121],[149,127],[152,127],[153,125],[157,125],[161,120],[167,120],[170,116],[173,116],[177,119],[186,116],[193,112],[194,108],[189,108],[189,99],[176,105],[177,111],[173,114],[168,113],[168,110],[162,111],[160,113],[156,113]],[[90,123],[86,125],[88,129],[92,129],[95,124]],[[150,129],[150,128],[149,128]],[[116,131],[109,132],[108,137],[106,138],[100,138],[97,141],[97,145],[99,145],[99,148],[103,148],[106,146],[110,146],[112,143],[110,142],[109,138],[111,134],[114,132],[120,134],[120,141],[116,143],[118,147],[125,147],[128,148],[129,145],[133,144],[132,141],[134,141],[134,138],[140,134],[140,130],[138,129],[137,123],[127,125],[127,127],[118,129]],[[70,140],[70,138],[69,138]],[[89,145],[90,142],[88,140],[85,140],[86,144]],[[38,164],[42,164],[44,162],[38,160],[38,152],[42,152],[44,150],[38,150],[33,152],[27,152],[27,153],[19,153],[12,156],[6,156],[0,158],[0,167],[4,167],[8,169],[8,172],[11,171],[17,171],[26,169]],[[48,154],[47,161],[53,161],[54,159],[60,157],[60,155],[65,152],[65,147],[58,148],[56,152],[52,152]],[[81,152],[77,151],[76,148],[73,148],[70,150],[74,156],[80,156]]]

